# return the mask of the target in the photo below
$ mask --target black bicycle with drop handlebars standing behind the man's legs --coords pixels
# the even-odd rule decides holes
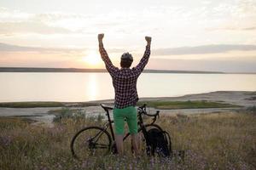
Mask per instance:
[[[106,116],[108,117],[108,122],[106,122],[103,127],[84,127],[83,129],[79,130],[73,136],[71,141],[70,147],[71,152],[74,158],[79,160],[86,159],[87,156],[94,156],[94,155],[102,155],[106,156],[111,150],[112,153],[116,153],[116,146],[114,144],[114,133],[113,133],[113,120],[111,120],[109,116],[109,111],[113,110],[112,107],[107,105],[101,105],[103,110],[106,111]],[[146,111],[146,104],[143,106],[138,107],[137,109],[137,117],[138,117],[138,133],[143,133],[143,152],[146,151],[148,156],[151,155],[150,153],[150,144],[148,142],[148,135],[147,131],[151,128],[157,128],[161,132],[164,132],[162,128],[154,124],[156,118],[160,117],[160,111],[156,111],[154,115],[149,115]],[[153,117],[152,122],[145,124],[143,123],[143,115]],[[108,133],[108,127],[110,133]],[[124,141],[130,136],[130,133],[126,133],[124,136]],[[146,144],[145,144],[146,143]],[[172,143],[171,139],[168,139],[169,149],[172,150]]]

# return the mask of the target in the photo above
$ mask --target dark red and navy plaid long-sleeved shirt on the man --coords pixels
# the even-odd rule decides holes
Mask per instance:
[[[136,67],[121,68],[115,67],[108,57],[108,54],[103,47],[103,44],[99,44],[99,50],[102,55],[106,68],[113,79],[114,88],[114,106],[122,109],[127,106],[135,106],[137,104],[137,78],[143,72],[144,67],[148,63],[150,55],[150,45],[146,46],[143,58],[140,60]]]

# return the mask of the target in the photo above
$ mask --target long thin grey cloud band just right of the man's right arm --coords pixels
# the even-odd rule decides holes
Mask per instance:
[[[184,55],[184,54],[218,54],[227,53],[230,51],[253,51],[256,50],[256,45],[241,45],[241,44],[218,44],[204,45],[196,47],[181,47],[181,48],[159,48],[155,49],[154,55]]]

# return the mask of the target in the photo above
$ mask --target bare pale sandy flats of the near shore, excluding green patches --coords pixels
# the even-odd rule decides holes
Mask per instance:
[[[161,97],[161,98],[141,98],[140,101],[187,101],[187,100],[207,100],[231,105],[240,105],[243,108],[256,106],[256,92],[247,91],[218,91],[207,94],[189,94],[181,97]],[[94,106],[73,107],[80,109],[85,114],[104,114],[100,104],[113,105],[113,99],[90,101]],[[26,116],[33,120],[49,123],[53,119],[53,115],[49,114],[50,110],[61,109],[60,107],[44,107],[44,108],[0,108],[0,116]],[[241,109],[241,108],[240,108]],[[237,108],[210,108],[210,109],[179,109],[179,110],[160,110],[160,114],[200,114],[212,112],[234,111]],[[154,108],[148,108],[149,113],[154,113]]]

